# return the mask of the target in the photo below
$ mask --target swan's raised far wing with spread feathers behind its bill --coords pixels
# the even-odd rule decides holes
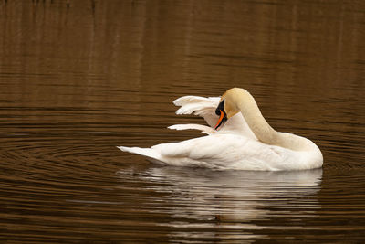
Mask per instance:
[[[219,97],[203,98],[198,96],[184,96],[181,97],[173,103],[180,108],[176,111],[176,114],[195,114],[203,117],[203,119],[209,124],[211,128],[214,128],[216,122],[218,121],[218,116],[215,114],[215,109],[220,101]],[[214,133],[212,130],[207,130],[200,127],[197,124],[190,125],[172,125],[170,129],[176,130],[187,130],[187,129],[197,129],[201,130],[203,133]],[[199,127],[199,128],[198,128]],[[214,130],[214,129],[213,129]],[[245,136],[256,139],[255,134],[248,127],[247,122],[245,122],[244,117],[241,112],[238,112],[225,122],[224,126],[219,129],[219,133],[240,133]]]

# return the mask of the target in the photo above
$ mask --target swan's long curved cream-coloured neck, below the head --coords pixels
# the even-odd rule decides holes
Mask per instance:
[[[240,95],[237,99],[236,108],[242,112],[248,126],[255,133],[256,138],[266,144],[277,145],[292,150],[303,150],[308,139],[290,133],[278,133],[268,122],[266,122],[261,111],[248,91]]]

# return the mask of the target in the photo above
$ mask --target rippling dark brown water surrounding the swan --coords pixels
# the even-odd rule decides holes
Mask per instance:
[[[323,169],[161,167],[115,146],[169,131],[172,101],[249,90]],[[360,243],[365,2],[0,1],[0,240]]]

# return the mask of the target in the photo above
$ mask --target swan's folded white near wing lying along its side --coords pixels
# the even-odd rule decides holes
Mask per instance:
[[[181,143],[162,143],[151,150],[165,164],[217,169],[282,170],[291,159],[287,150],[235,134],[215,133]],[[297,160],[297,159],[296,159]]]

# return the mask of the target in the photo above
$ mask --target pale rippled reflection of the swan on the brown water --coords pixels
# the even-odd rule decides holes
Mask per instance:
[[[250,230],[265,228],[256,225],[255,220],[287,215],[290,211],[299,218],[301,211],[307,216],[314,212],[318,208],[316,196],[322,170],[218,172],[151,167],[134,175],[152,191],[167,193],[156,198],[156,208],[150,206],[150,211],[171,215],[174,221],[162,225],[180,229],[173,235],[185,236],[186,231],[181,228],[203,228],[209,236],[219,228],[221,238],[224,230],[229,230],[230,238],[235,235],[232,230],[239,230],[236,238],[242,238],[243,234],[251,234]]]

